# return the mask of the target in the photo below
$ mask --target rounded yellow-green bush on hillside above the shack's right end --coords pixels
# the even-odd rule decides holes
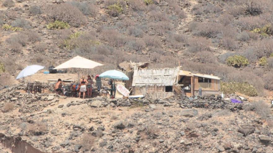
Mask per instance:
[[[241,67],[241,66],[246,66],[249,64],[248,59],[246,59],[244,56],[240,56],[240,55],[234,55],[234,56],[230,56],[226,59],[226,63],[229,66],[233,66],[233,67]]]

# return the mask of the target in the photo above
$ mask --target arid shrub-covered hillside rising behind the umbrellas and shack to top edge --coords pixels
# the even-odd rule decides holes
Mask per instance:
[[[257,93],[249,96],[266,95],[272,10],[270,0],[2,0],[0,86],[29,64],[57,66],[80,55],[105,64],[94,73],[123,61],[180,63],[228,87],[246,82]]]

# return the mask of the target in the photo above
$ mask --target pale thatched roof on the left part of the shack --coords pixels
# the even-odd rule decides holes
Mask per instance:
[[[179,67],[164,69],[135,69],[132,86],[172,86],[176,82]]]

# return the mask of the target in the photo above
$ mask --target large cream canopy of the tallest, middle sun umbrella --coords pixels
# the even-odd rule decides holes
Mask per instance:
[[[68,60],[61,65],[55,67],[54,69],[67,69],[67,68],[83,68],[83,69],[92,69],[96,66],[103,66],[103,64],[76,56],[71,60]]]

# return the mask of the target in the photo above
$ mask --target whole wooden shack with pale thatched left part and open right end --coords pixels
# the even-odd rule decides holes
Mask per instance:
[[[214,75],[191,73],[176,68],[134,69],[132,95],[151,98],[173,96],[180,87],[186,96],[220,94],[220,79]]]

